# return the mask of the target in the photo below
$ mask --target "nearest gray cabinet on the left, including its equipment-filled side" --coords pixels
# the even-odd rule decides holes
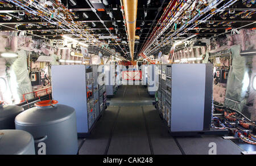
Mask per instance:
[[[94,69],[97,69],[97,66]],[[94,76],[92,66],[52,66],[53,99],[59,101],[60,104],[75,108],[79,137],[84,137],[89,133],[99,112],[99,106],[95,103],[95,99],[98,99],[98,91],[87,97],[87,92],[94,92],[94,87],[97,87]]]

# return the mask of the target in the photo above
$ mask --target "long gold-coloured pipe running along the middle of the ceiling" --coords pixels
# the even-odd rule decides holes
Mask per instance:
[[[128,42],[130,47],[131,60],[134,59],[134,41],[136,31],[138,0],[123,0],[125,20],[127,25]]]

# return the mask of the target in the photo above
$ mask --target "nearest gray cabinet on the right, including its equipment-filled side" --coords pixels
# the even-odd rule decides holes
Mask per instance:
[[[160,114],[171,132],[210,130],[213,66],[162,65]]]

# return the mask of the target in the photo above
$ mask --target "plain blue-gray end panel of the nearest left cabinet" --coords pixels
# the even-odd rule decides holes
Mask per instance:
[[[52,96],[75,108],[77,133],[88,133],[85,65],[52,65]]]

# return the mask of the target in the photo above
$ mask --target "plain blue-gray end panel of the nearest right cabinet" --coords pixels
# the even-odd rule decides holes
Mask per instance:
[[[172,65],[171,131],[204,129],[205,73],[206,64]]]

